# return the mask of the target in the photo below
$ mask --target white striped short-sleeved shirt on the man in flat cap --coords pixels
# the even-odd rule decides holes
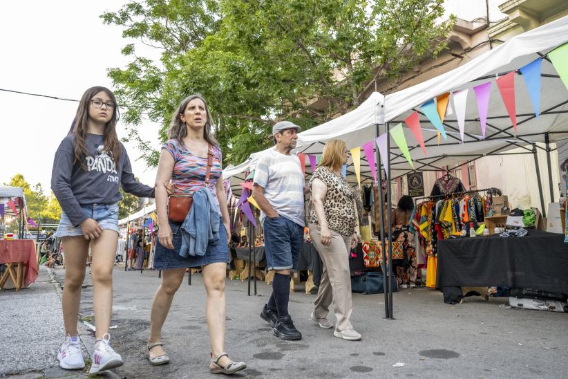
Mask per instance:
[[[264,196],[281,216],[305,226],[304,176],[295,154],[285,155],[269,149],[258,158],[254,183],[264,188]],[[261,223],[266,215],[261,212]]]

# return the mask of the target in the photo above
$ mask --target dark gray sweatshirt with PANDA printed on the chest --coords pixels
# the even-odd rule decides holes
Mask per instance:
[[[78,164],[73,165],[73,140],[70,134],[61,141],[55,152],[53,171],[51,172],[51,190],[57,197],[61,209],[71,223],[79,226],[88,219],[81,205],[112,204],[122,200],[118,190],[119,183],[124,192],[138,197],[154,197],[154,189],[139,183],[134,174],[126,149],[122,143],[120,162],[109,156],[104,150],[104,136],[87,134],[85,145],[88,156],[84,158],[87,171]]]

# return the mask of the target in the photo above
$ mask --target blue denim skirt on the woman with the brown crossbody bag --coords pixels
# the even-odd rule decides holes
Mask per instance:
[[[207,246],[207,251],[202,257],[182,257],[182,224],[169,221],[171,228],[173,249],[164,248],[160,243],[160,237],[155,243],[154,268],[156,270],[168,270],[171,268],[189,268],[207,266],[208,264],[229,264],[229,246],[227,245],[227,230],[225,224],[219,218],[219,240],[215,245]]]

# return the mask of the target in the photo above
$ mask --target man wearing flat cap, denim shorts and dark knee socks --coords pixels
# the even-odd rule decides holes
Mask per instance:
[[[268,270],[274,270],[272,295],[261,317],[283,340],[301,340],[288,313],[290,275],[296,270],[303,244],[304,175],[296,147],[300,127],[276,122],[272,136],[276,146],[258,158],[254,169],[254,199],[261,207]]]

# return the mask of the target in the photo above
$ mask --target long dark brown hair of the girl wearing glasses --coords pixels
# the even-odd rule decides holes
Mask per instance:
[[[104,149],[111,152],[112,158],[115,160],[115,164],[118,165],[120,160],[120,153],[122,152],[122,147],[120,145],[120,140],[116,134],[116,123],[118,122],[118,104],[116,102],[116,96],[110,89],[101,86],[94,86],[86,90],[83,93],[81,101],[79,102],[79,107],[77,107],[77,114],[75,115],[75,120],[73,120],[73,125],[69,134],[73,133],[75,140],[73,141],[73,164],[78,163],[79,166],[86,170],[87,167],[84,164],[84,158],[88,156],[88,149],[85,144],[85,139],[88,133],[88,107],[91,106],[91,100],[99,92],[105,92],[111,100],[115,103],[113,109],[113,116],[111,120],[108,121],[104,127]]]

